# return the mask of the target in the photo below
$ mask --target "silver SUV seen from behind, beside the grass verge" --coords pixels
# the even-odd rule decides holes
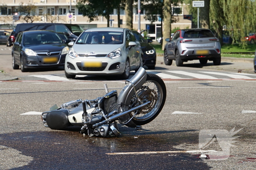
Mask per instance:
[[[205,65],[207,61],[213,61],[215,66],[221,64],[221,44],[210,29],[181,29],[177,30],[172,40],[166,39],[164,49],[164,62],[171,65],[172,60],[176,66],[182,66],[183,62],[199,60]]]

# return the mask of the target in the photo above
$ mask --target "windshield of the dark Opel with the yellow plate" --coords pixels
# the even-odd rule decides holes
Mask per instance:
[[[23,36],[24,45],[63,43],[60,36],[54,32],[31,32]]]

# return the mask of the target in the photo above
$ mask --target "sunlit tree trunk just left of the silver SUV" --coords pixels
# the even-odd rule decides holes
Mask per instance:
[[[171,38],[171,19],[172,19],[172,0],[165,0],[163,3],[163,44],[162,50],[165,48],[165,39]]]

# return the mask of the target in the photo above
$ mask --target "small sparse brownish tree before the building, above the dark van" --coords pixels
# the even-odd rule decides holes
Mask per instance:
[[[40,21],[41,18],[38,17],[35,13],[37,7],[33,4],[24,5],[21,3],[18,7],[20,12],[20,19],[25,20],[27,23],[33,23],[34,21]]]

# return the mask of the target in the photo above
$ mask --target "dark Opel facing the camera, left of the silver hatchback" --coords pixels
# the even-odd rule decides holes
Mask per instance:
[[[18,33],[12,47],[12,68],[22,72],[28,68],[64,66],[69,48],[54,31]]]

